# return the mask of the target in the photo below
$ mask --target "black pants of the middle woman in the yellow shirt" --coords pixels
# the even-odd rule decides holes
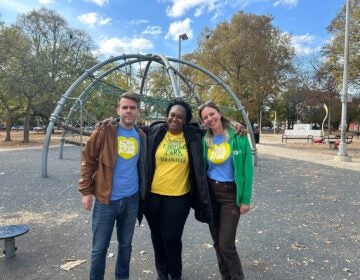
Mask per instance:
[[[151,230],[155,266],[161,277],[180,278],[182,243],[186,219],[191,206],[190,193],[182,196],[149,194],[145,217]]]

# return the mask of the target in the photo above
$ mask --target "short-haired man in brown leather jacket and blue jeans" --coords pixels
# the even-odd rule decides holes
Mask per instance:
[[[91,210],[92,251],[90,280],[104,279],[107,249],[116,221],[118,254],[115,279],[129,279],[132,236],[136,217],[142,217],[139,199],[146,190],[146,135],[134,124],[140,100],[124,93],[118,101],[118,123],[100,124],[83,151],[79,191],[82,206]]]

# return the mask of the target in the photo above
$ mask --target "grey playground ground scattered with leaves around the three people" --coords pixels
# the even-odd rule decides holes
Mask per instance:
[[[291,149],[274,155],[269,147],[284,148],[259,145],[252,211],[237,233],[246,279],[360,279],[360,169],[285,158]],[[91,215],[77,192],[79,148],[66,147],[62,160],[50,149],[46,179],[41,156],[41,149],[0,152],[0,225],[30,226],[16,238],[16,257],[0,257],[0,279],[87,279]],[[220,279],[208,229],[193,213],[183,245],[183,279]],[[86,262],[60,268],[70,260]],[[113,239],[106,279],[114,279],[115,260]],[[146,221],[135,229],[131,279],[156,279]]]

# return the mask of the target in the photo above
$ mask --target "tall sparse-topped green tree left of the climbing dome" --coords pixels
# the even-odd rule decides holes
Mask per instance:
[[[42,8],[20,15],[15,28],[31,42],[14,88],[26,101],[24,142],[29,142],[31,114],[47,117],[74,79],[95,63],[90,37],[71,29],[56,12]]]

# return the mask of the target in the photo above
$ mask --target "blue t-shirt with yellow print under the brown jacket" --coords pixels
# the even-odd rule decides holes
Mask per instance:
[[[117,157],[110,200],[131,196],[139,191],[137,163],[140,157],[140,136],[135,128],[118,126]]]

